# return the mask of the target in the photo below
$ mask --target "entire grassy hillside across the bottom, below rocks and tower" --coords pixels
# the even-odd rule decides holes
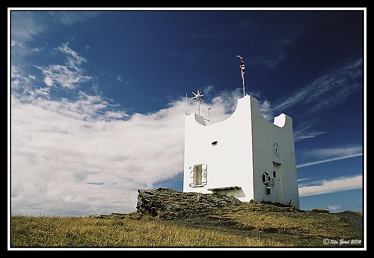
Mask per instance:
[[[306,212],[256,202],[176,220],[114,217],[12,216],[11,246],[326,246],[324,238],[362,240],[360,212]]]

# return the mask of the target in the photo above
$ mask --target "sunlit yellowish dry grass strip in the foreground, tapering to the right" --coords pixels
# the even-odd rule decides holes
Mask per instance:
[[[283,246],[155,220],[12,216],[11,246]]]

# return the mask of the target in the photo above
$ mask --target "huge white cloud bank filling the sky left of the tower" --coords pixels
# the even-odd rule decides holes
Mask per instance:
[[[202,113],[211,106],[215,121],[225,119],[237,92],[202,104]],[[14,214],[130,212],[139,188],[183,171],[184,98],[128,116],[99,96],[80,94],[76,101],[12,95]],[[188,109],[196,109],[194,101]]]

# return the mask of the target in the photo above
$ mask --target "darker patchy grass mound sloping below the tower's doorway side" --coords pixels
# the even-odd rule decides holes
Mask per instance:
[[[242,203],[225,207],[208,217],[227,222],[231,226],[262,233],[271,233],[274,239],[292,236],[291,244],[321,245],[321,239],[361,239],[362,229],[354,228],[339,216],[328,213],[284,211],[284,208],[260,203]],[[361,214],[362,212],[355,212]],[[323,246],[323,245],[322,245]]]

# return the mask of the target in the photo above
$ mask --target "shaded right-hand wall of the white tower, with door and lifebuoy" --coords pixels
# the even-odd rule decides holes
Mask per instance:
[[[255,200],[288,204],[293,199],[295,207],[299,208],[292,118],[282,113],[274,118],[277,125],[269,122],[264,118],[258,100],[254,97],[251,97],[251,110]],[[274,143],[279,146],[278,157],[274,155]],[[267,171],[273,177],[273,162],[280,164],[280,171],[275,178],[275,185],[271,186],[271,194],[268,195],[262,175]],[[278,194],[278,187],[281,188],[281,195]]]

